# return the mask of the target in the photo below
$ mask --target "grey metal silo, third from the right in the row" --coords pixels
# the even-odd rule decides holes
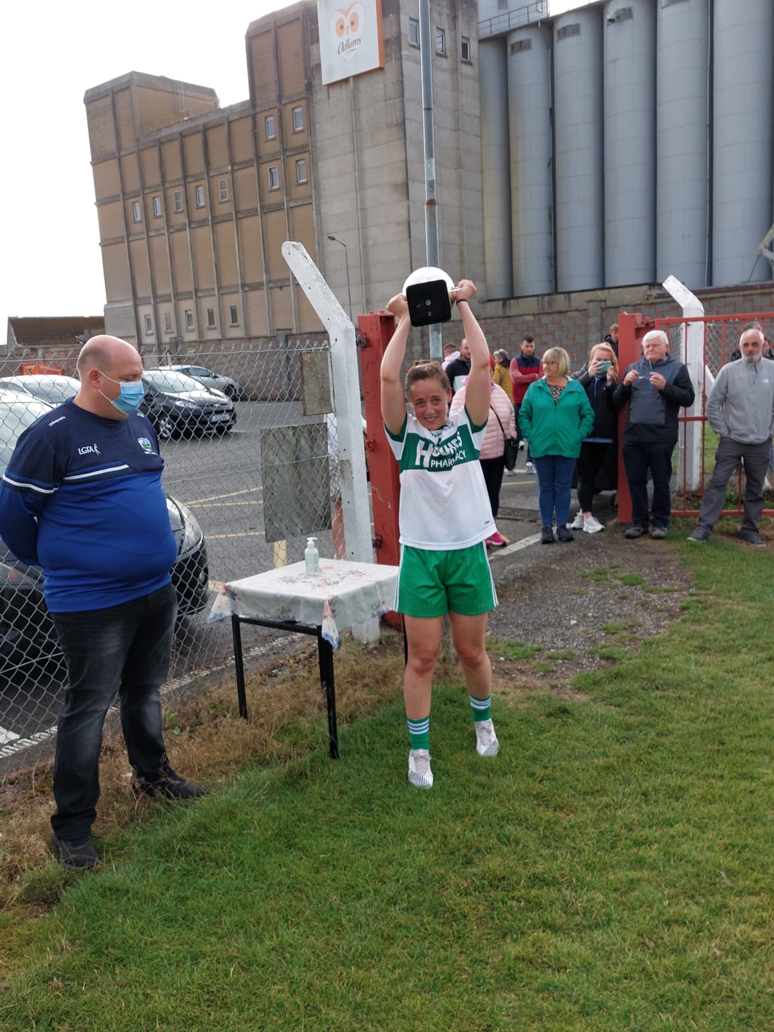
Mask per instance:
[[[655,273],[655,2],[603,10],[605,286]]]

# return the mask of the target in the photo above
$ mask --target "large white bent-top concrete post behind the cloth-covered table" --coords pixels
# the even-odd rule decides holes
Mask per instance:
[[[336,417],[338,477],[342,482],[342,508],[347,558],[358,562],[374,561],[374,545],[368,511],[368,483],[363,451],[360,381],[358,379],[355,327],[312,261],[302,244],[286,240],[282,254],[310,304],[322,320],[330,341],[330,365],[333,375],[333,412]],[[379,620],[368,620],[353,627],[360,641],[372,642],[374,627],[379,640]]]

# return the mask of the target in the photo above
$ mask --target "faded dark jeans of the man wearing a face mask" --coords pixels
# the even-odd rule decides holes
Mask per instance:
[[[120,606],[52,613],[68,674],[54,762],[51,823],[59,838],[83,841],[94,824],[102,727],[117,692],[137,775],[154,780],[166,764],[159,688],[169,671],[176,609],[167,584]]]

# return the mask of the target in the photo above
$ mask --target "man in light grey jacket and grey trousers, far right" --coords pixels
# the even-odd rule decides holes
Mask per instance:
[[[739,537],[766,548],[757,530],[764,510],[764,480],[774,432],[774,361],[763,357],[764,334],[748,329],[739,341],[741,362],[723,365],[707,398],[707,419],[720,436],[715,469],[705,489],[699,524],[688,541],[707,541],[717,522],[734,471],[744,460],[747,489]]]

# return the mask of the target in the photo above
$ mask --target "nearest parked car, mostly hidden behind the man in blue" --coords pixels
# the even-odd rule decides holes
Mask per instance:
[[[0,390],[0,476],[17,440],[53,406],[29,395]],[[171,570],[180,616],[206,608],[209,570],[204,535],[188,506],[166,495],[169,524],[178,543]],[[0,542],[0,676],[25,675],[41,666],[59,669],[62,653],[45,608],[39,567],[21,562]]]

